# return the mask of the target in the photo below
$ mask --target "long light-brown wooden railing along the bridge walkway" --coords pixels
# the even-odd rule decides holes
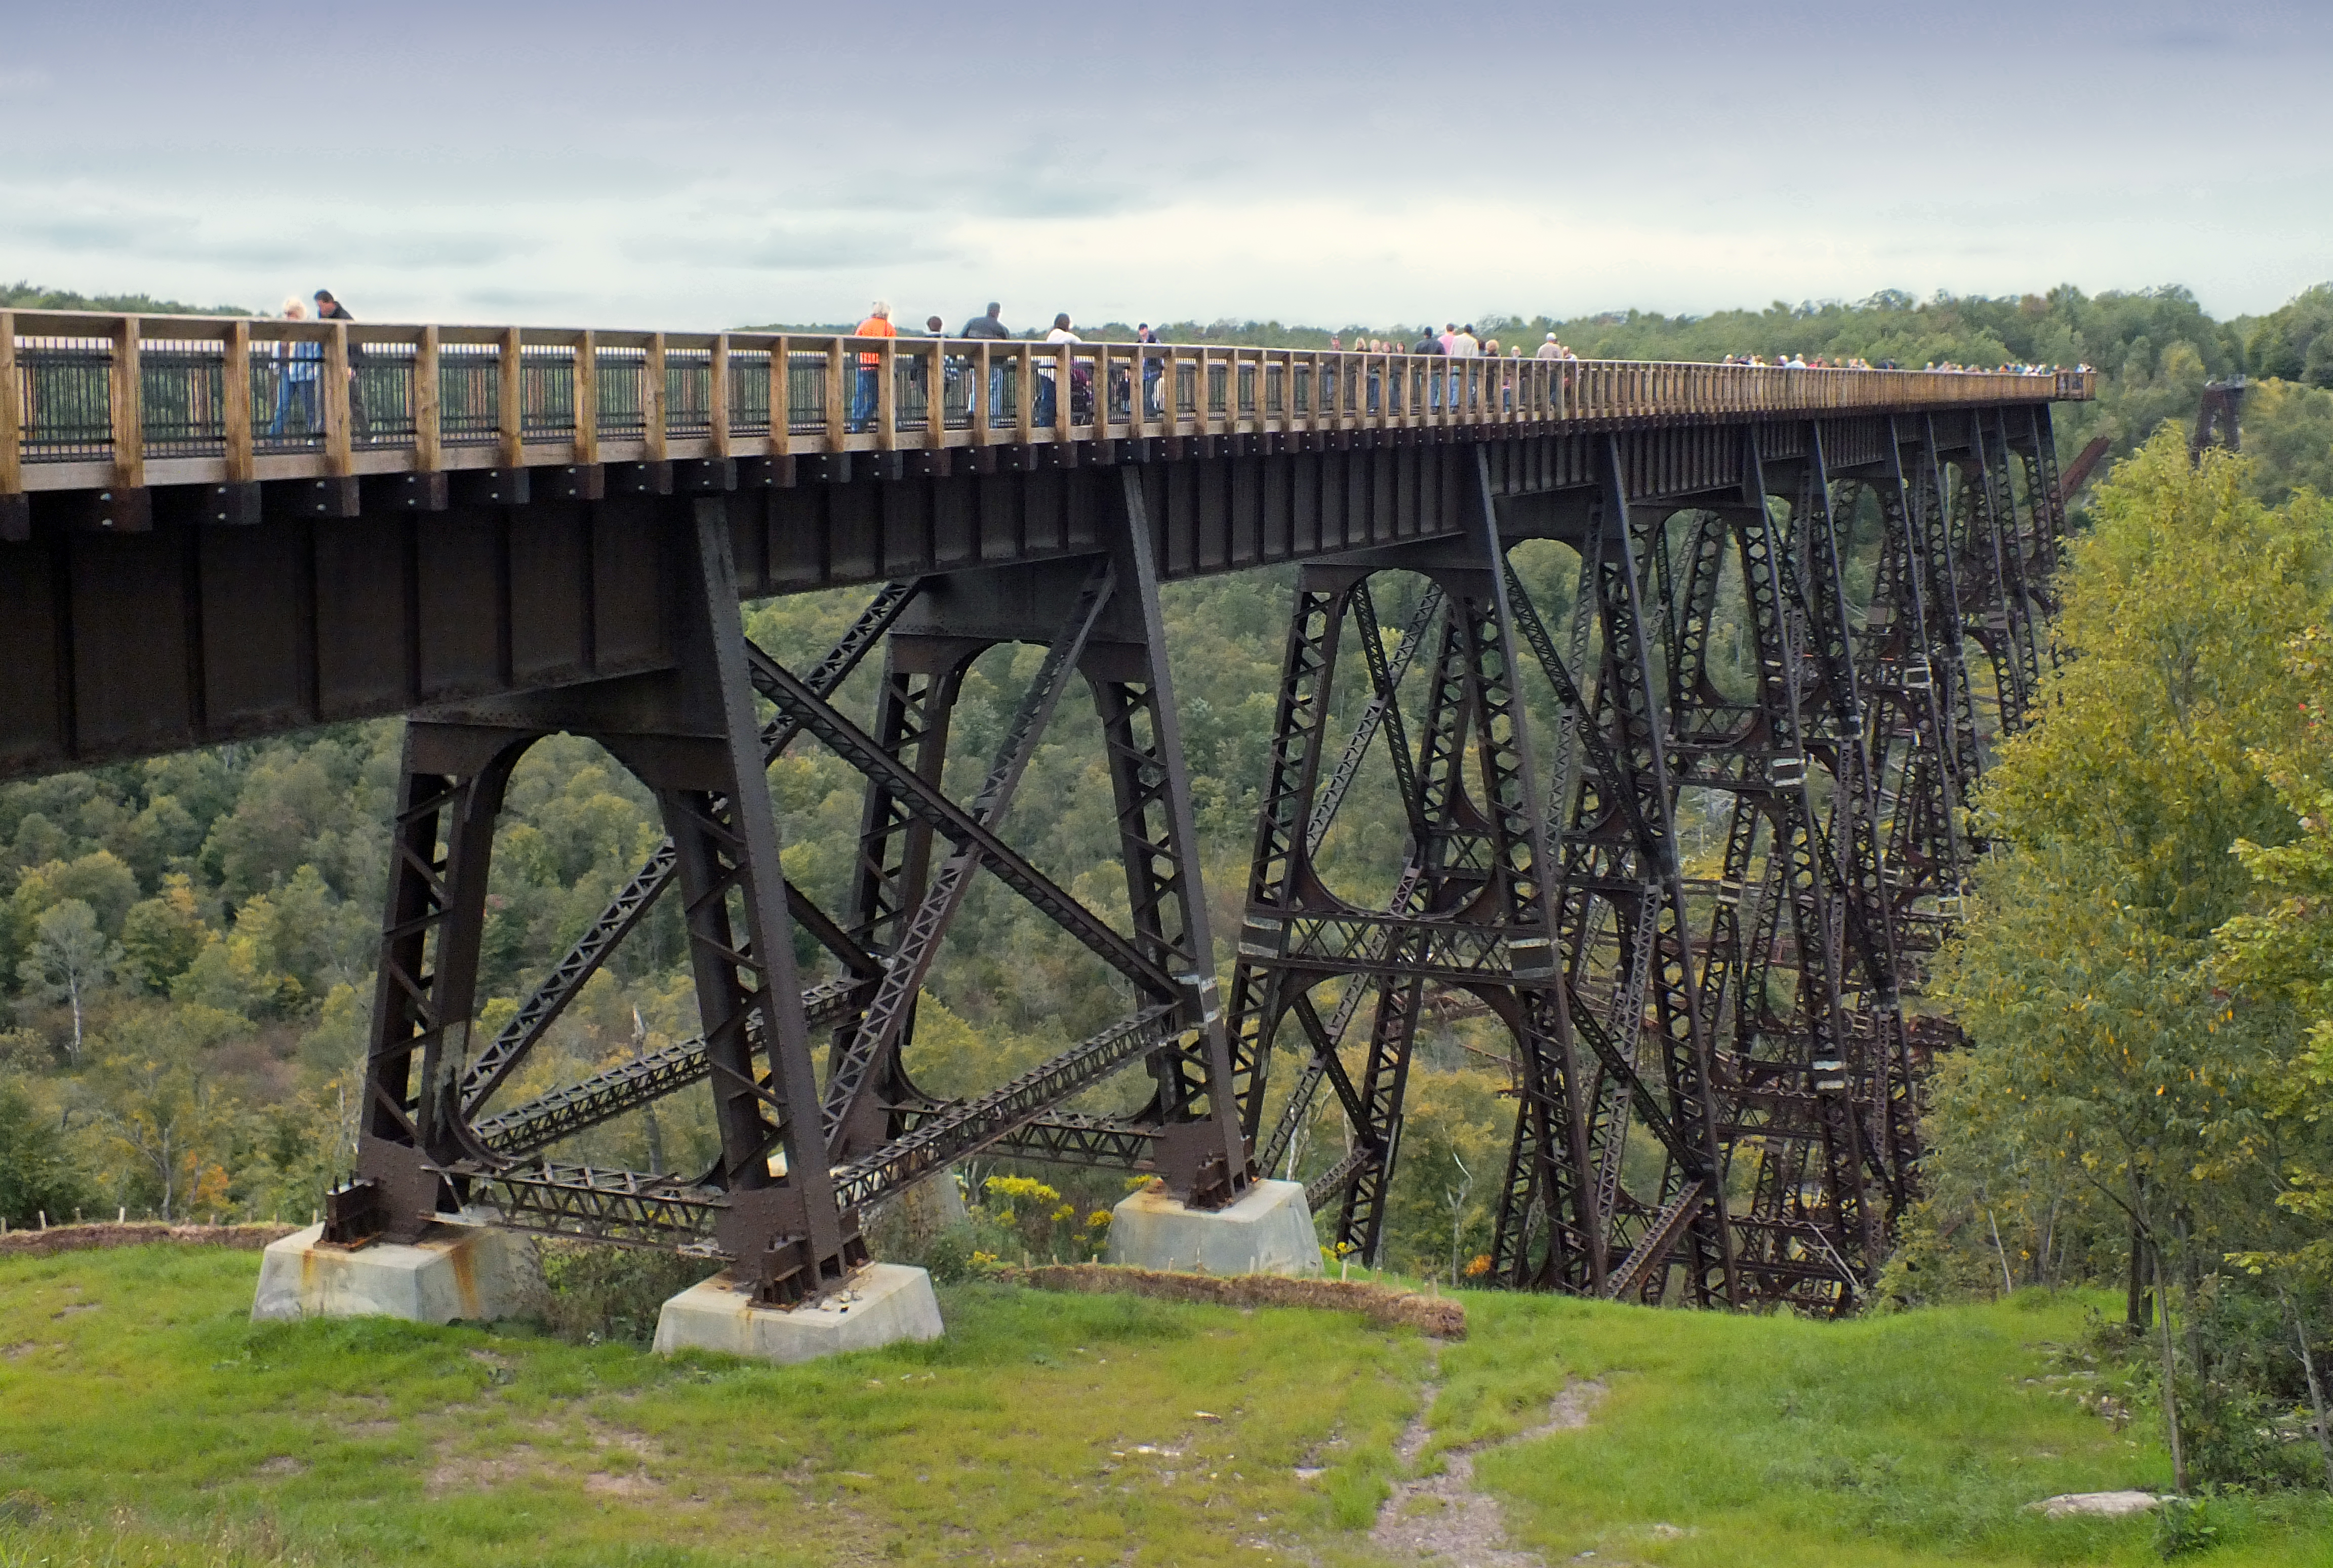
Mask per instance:
[[[0,497],[439,469],[2088,399],[2093,373],[0,310]]]

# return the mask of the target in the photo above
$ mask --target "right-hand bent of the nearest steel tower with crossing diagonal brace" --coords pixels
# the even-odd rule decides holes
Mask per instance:
[[[1199,1204],[1227,1202],[1248,1183],[1248,1150],[1236,1127],[1236,1099],[1227,1087],[1229,1057],[1208,973],[1211,940],[1197,889],[1197,833],[1166,681],[1150,525],[1132,474],[1122,499],[1125,530],[1108,555],[1087,558],[1090,572],[1059,625],[1003,632],[999,616],[1013,621],[1027,609],[1024,597],[1001,586],[999,574],[987,574],[996,581],[985,586],[966,586],[945,604],[929,602],[919,611],[924,621],[915,637],[931,646],[917,658],[938,660],[945,670],[922,688],[919,707],[919,691],[912,686],[917,672],[894,660],[880,737],[868,737],[831,705],[803,693],[775,660],[756,660],[763,695],[868,777],[866,828],[845,919],[875,950],[882,978],[866,1017],[838,1036],[826,1104],[838,1162],[847,1157],[856,1167],[863,1160],[889,1160],[887,1150],[905,1148],[910,1139],[919,1148],[929,1146],[924,1129],[933,1118],[959,1115],[908,1083],[901,1052],[938,936],[959,908],[971,875],[987,868],[1127,975],[1150,1006],[1169,1008],[1180,1024],[1146,1031],[1141,1055],[1157,1090],[1132,1118],[1059,1113],[1059,1099],[1083,1090],[1085,1080],[1066,1085],[1055,1076],[1031,1090],[1050,1099],[1031,1106],[1013,1099],[1013,1120],[982,1136],[1006,1139],[1031,1157],[1071,1157],[1085,1150],[1111,1162],[1150,1164],[1178,1195]],[[1045,579],[1031,581],[1034,595],[1057,595],[1059,588],[1045,583],[1059,583],[1062,574],[1052,567],[1041,572]],[[1008,726],[987,784],[968,810],[957,807],[938,789],[947,705],[973,653],[1006,635],[1043,642],[1048,656]],[[1085,674],[1101,721],[1132,936],[1113,931],[994,833],[1071,672]],[[936,873],[926,873],[924,845],[933,835],[950,842],[954,854]],[[1115,1062],[1113,1057],[1111,1071]]]

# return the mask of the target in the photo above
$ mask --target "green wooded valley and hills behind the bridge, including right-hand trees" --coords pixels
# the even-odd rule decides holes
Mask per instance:
[[[0,289],[0,303],[184,308],[26,285]],[[2184,289],[2060,287],[1477,327],[1526,345],[1554,331],[1582,357],[1801,352],[2102,373],[2095,404],[2055,415],[2062,460],[2104,434],[2111,474],[2102,467],[2076,502],[2062,667],[2039,723],[2002,747],[1978,800],[1997,854],[1927,999],[1962,1020],[1971,1045],[1939,1069],[1932,1197],[1885,1295],[2128,1286],[2130,1321],[2163,1332],[2172,1398],[2186,1388],[2202,1412],[2198,1463],[2263,1465],[2240,1451],[2244,1433],[2270,1405],[2303,1398],[2296,1346],[2321,1349],[2333,1328],[2333,509],[2319,499],[2333,492],[2333,285],[2226,322]],[[1327,343],[1327,329],[1255,322],[1169,324],[1164,336]],[[2244,455],[2214,453],[2191,469],[2186,425],[2205,380],[2226,376],[2251,378]],[[1869,518],[1852,546],[1869,581]],[[1542,607],[1568,602],[1565,551],[1526,546],[1519,567]],[[1274,572],[1166,593],[1225,971],[1288,593],[1290,579]],[[1381,604],[1395,625],[1400,595]],[[861,597],[772,600],[744,616],[751,637],[800,667]],[[1738,660],[1738,639],[1719,635],[1719,665],[1729,649]],[[978,663],[957,716],[952,791],[968,796],[987,768],[1036,658],[996,649]],[[1747,672],[1719,667],[1717,679],[1745,684]],[[873,672],[854,677],[842,705],[870,712]],[[1122,919],[1099,737],[1080,707],[1062,712],[1003,831]],[[117,1211],[310,1216],[352,1157],[397,751],[394,721],[357,723],[0,789],[9,1225]],[[856,775],[800,742],[770,779],[789,875],[840,901]],[[1325,845],[1327,875],[1353,891],[1390,882],[1402,849],[1374,789],[1365,777]],[[646,793],[590,742],[558,737],[527,756],[497,840],[488,1029],[658,838]],[[1691,824],[1684,838],[1694,854],[1715,852]],[[910,1071],[938,1092],[999,1083],[1122,1013],[1125,996],[1083,950],[1001,887],[978,884],[926,987]],[[506,1094],[686,1034],[691,982],[665,908]],[[1409,1087],[1386,1262],[1449,1272],[1488,1246],[1512,1120],[1498,1055],[1479,1020],[1442,1017],[1430,1031]],[[686,1169],[712,1148],[698,1099],[586,1134],[581,1153]],[[1337,1118],[1330,1101],[1295,1174],[1344,1153]],[[985,1174],[973,1171],[975,1197]],[[1122,1190],[1101,1174],[1027,1176],[1059,1185],[1076,1213]],[[1073,1230],[1038,1246],[1092,1244]],[[2172,1314],[2153,1311],[2156,1295]]]

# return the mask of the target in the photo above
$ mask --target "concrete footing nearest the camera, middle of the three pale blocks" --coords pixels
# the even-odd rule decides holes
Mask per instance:
[[[870,1262],[845,1288],[793,1309],[756,1307],[751,1286],[714,1274],[665,1302],[656,1318],[656,1353],[721,1351],[793,1363],[901,1339],[938,1339],[940,1332],[931,1274],[903,1262]]]

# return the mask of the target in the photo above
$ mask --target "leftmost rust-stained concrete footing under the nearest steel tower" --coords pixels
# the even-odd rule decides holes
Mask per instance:
[[[534,1281],[534,1246],[488,1225],[432,1225],[406,1246],[327,1246],[324,1227],[292,1232],[259,1260],[252,1321],[278,1318],[504,1318]]]

